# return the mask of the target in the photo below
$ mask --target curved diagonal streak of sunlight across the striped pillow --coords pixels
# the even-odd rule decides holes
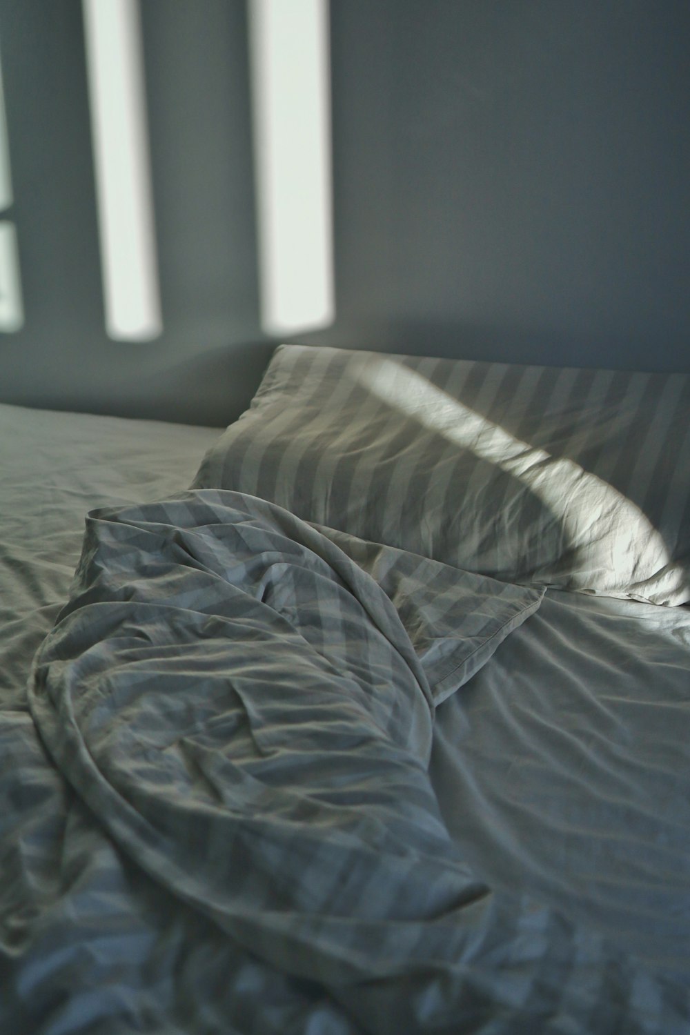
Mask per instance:
[[[499,424],[452,398],[426,378],[391,359],[376,359],[359,374],[361,383],[383,402],[413,417],[421,426],[442,435],[462,449],[496,465],[518,479],[559,520],[568,544],[587,550],[593,532],[616,530],[617,573],[635,581],[635,557],[626,544],[644,543],[648,559],[657,571],[669,562],[663,536],[640,508],[608,482],[567,457],[553,457],[544,449],[521,442]]]

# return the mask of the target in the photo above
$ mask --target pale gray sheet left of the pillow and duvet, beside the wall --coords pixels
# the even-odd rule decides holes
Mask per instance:
[[[0,700],[64,603],[94,507],[154,500],[189,483],[211,427],[0,405]]]

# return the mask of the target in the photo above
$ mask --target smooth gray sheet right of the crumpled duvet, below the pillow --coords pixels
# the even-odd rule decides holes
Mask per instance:
[[[478,873],[690,986],[690,610],[549,590],[433,745]]]

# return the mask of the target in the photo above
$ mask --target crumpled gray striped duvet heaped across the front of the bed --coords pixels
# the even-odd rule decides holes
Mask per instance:
[[[685,983],[468,865],[424,647],[344,552],[239,494],[89,532],[30,684],[57,770],[3,729],[4,1028],[687,1031]]]

